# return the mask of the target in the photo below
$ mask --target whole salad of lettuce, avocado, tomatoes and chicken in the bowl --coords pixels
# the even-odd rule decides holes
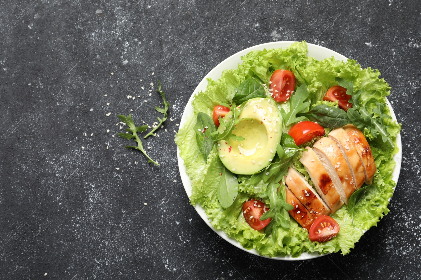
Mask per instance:
[[[305,41],[249,52],[208,79],[176,134],[191,204],[271,257],[348,254],[395,186],[389,85],[355,60],[306,54]]]

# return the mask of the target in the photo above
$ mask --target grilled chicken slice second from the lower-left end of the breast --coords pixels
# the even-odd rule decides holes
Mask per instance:
[[[288,168],[285,184],[314,218],[330,214],[329,207],[323,202],[317,192],[314,191],[313,187],[309,185],[303,175],[299,174],[292,167]]]

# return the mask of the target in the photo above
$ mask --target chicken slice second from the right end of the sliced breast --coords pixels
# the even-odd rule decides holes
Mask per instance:
[[[342,128],[336,128],[330,131],[329,138],[335,141],[336,146],[338,146],[346,163],[350,167],[355,186],[357,189],[361,188],[365,181],[364,166],[362,166],[360,156],[354,144],[352,144],[349,134]]]

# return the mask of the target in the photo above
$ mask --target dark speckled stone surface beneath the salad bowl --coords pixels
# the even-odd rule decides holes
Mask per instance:
[[[418,0],[32,1],[0,2],[0,280],[419,279]],[[172,131],[195,86],[233,53],[275,40],[328,47],[392,86],[400,180],[390,214],[346,256],[248,254],[203,222],[180,181]],[[174,104],[168,132],[144,143],[160,167],[112,138],[117,114],[156,120],[156,79]]]

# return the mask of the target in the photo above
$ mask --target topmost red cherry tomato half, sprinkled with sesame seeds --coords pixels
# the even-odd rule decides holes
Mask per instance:
[[[291,97],[295,88],[295,76],[289,70],[275,70],[270,77],[269,91],[277,102],[285,101]]]

